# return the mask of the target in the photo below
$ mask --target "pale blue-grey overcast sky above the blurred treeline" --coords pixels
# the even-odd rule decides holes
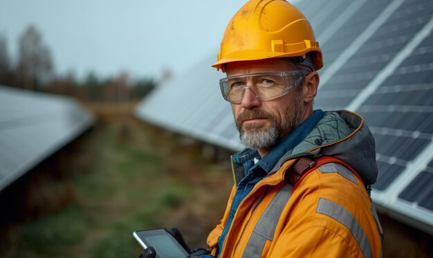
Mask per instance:
[[[245,0],[0,0],[0,35],[9,56],[33,24],[50,48],[57,75],[90,71],[158,78],[179,75],[214,56]],[[210,66],[211,64],[209,64]],[[211,68],[211,67],[210,67]]]

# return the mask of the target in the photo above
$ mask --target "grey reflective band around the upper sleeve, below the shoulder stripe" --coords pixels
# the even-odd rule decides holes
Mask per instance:
[[[370,241],[358,221],[348,210],[344,209],[338,203],[320,198],[316,212],[330,216],[332,219],[335,219],[335,221],[338,221],[349,228],[353,237],[358,242],[358,246],[364,253],[364,257],[371,257]]]

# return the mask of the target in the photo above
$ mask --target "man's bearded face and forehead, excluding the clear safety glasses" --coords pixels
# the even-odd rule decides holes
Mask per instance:
[[[291,70],[291,63],[282,59],[234,62],[226,67],[228,77]],[[250,89],[246,89],[242,102],[232,104],[241,142],[251,149],[271,149],[300,125],[303,107],[302,84],[286,95],[266,101],[258,100]]]

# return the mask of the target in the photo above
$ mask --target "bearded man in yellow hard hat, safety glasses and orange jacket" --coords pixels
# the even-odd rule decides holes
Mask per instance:
[[[252,0],[228,24],[215,68],[241,142],[209,252],[195,257],[380,257],[369,198],[374,139],[348,111],[313,111],[322,52],[304,15]]]

